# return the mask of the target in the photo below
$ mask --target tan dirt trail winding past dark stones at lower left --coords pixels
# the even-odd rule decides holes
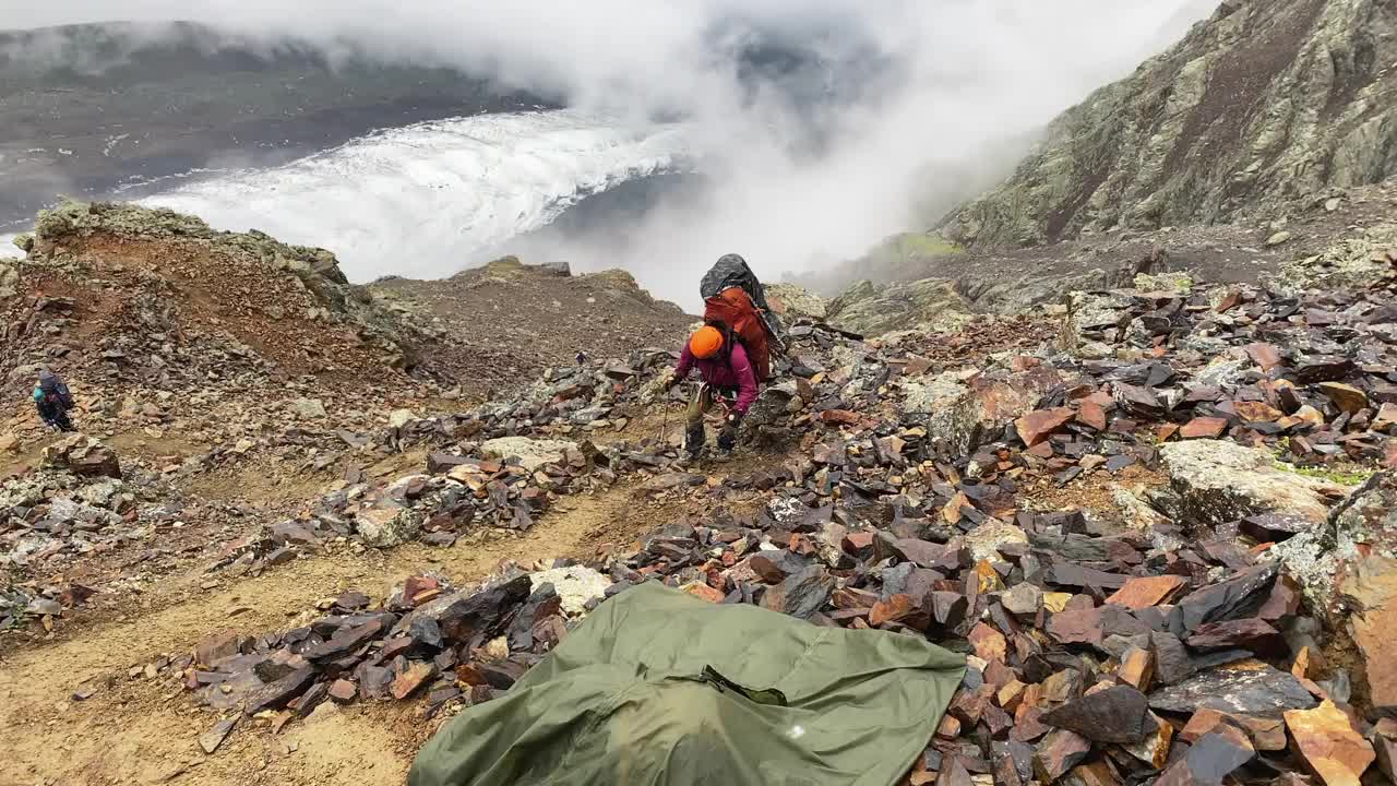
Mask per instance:
[[[187,652],[219,628],[258,634],[292,627],[317,600],[346,589],[381,599],[393,583],[425,569],[464,583],[502,559],[592,557],[604,543],[622,547],[654,527],[655,513],[623,485],[564,499],[522,536],[490,533],[448,550],[412,544],[388,554],[317,557],[212,590],[198,589],[207,580],[198,573],[172,578],[156,590],[166,597],[151,599],[154,613],[88,625],[71,639],[0,660],[0,783],[401,783],[425,736],[414,702],[353,705],[293,723],[279,736],[244,719],[222,748],[204,755],[197,740],[217,717],[166,678],[129,678],[127,670]],[[84,683],[96,684],[96,694],[74,701]]]

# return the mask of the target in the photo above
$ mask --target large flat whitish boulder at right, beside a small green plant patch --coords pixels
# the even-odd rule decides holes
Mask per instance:
[[[1185,526],[1217,526],[1259,513],[1288,513],[1319,526],[1329,515],[1326,492],[1348,492],[1277,469],[1268,452],[1228,441],[1173,442],[1160,448],[1160,459],[1178,495],[1176,519]]]

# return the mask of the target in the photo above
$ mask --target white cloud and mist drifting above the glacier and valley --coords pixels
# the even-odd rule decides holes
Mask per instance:
[[[701,210],[693,200],[661,204],[637,227],[573,238],[573,248],[559,252],[581,267],[619,260],[675,295],[693,290],[697,273],[724,252],[742,252],[763,271],[803,270],[856,256],[887,234],[925,228],[933,211],[1006,175],[1035,129],[1127,74],[1211,6],[0,0],[0,18],[18,27],[103,21],[113,13],[140,22],[190,20],[268,50],[291,36],[331,57],[490,73],[556,91],[574,106],[626,112],[637,123],[680,113],[712,183]],[[731,55],[753,42],[798,48],[814,67],[795,87],[750,78],[745,60]],[[627,250],[617,255],[617,245]]]

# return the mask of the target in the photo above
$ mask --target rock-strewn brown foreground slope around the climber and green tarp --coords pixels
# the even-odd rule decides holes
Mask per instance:
[[[0,445],[3,782],[401,783],[641,582],[963,653],[904,783],[1393,773],[1397,235],[1003,316],[782,288],[791,352],[697,466],[658,386],[690,317],[622,274],[352,287],[120,206],[24,242],[11,389],[123,404]],[[488,345],[546,368],[455,397]]]

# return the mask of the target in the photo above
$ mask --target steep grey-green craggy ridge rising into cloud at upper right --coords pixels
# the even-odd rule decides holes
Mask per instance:
[[[949,220],[981,245],[1275,218],[1397,173],[1397,8],[1228,0]]]

